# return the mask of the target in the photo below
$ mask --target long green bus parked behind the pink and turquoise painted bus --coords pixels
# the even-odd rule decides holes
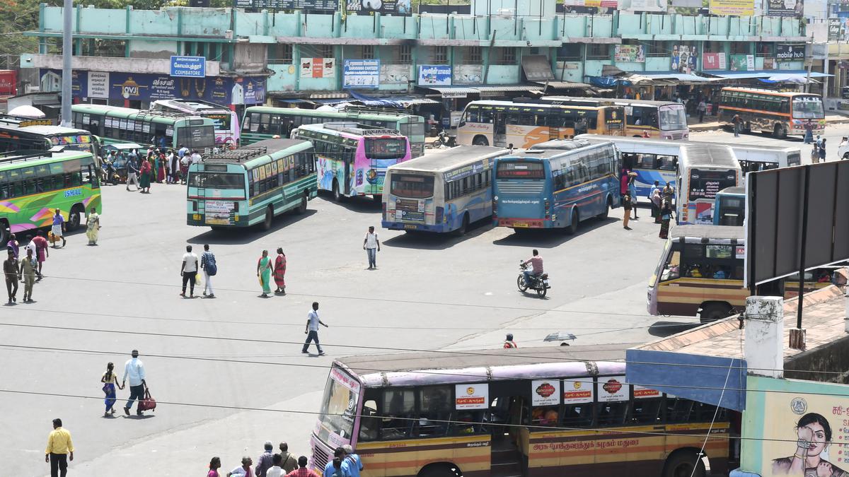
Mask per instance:
[[[268,137],[289,137],[295,127],[302,124],[350,121],[365,126],[392,129],[410,140],[413,157],[424,155],[424,118],[403,112],[379,113],[349,109],[345,111],[319,111],[318,109],[269,108],[250,106],[245,109],[242,121],[242,143],[256,143]]]

